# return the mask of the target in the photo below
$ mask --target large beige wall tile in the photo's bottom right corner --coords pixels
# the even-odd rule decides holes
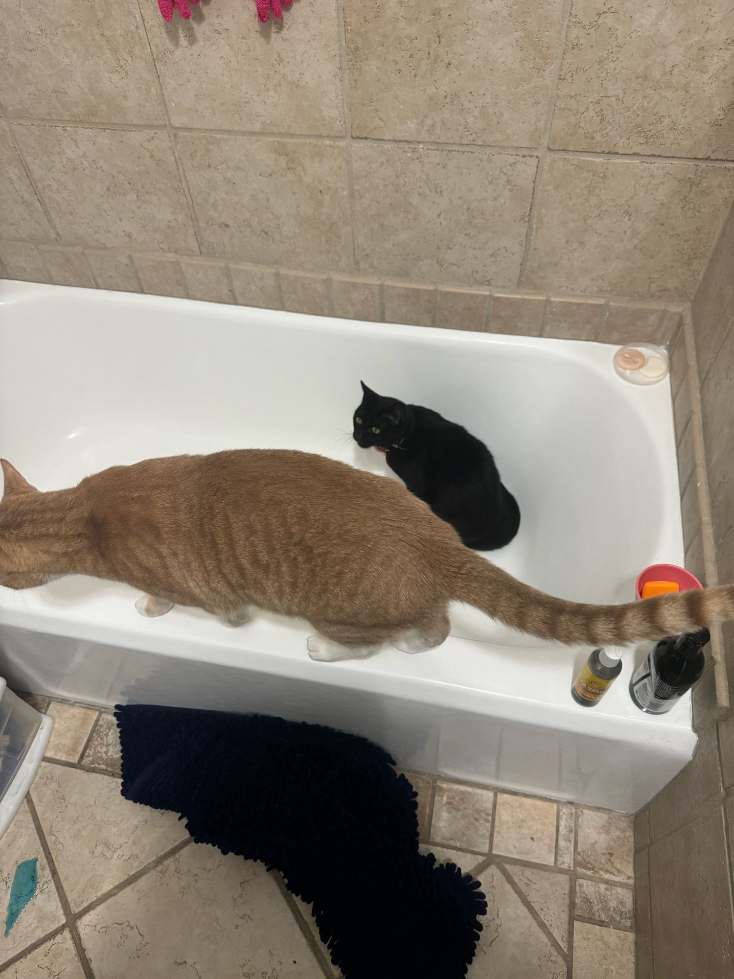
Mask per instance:
[[[725,848],[720,806],[650,847],[656,979],[730,974],[734,934]]]

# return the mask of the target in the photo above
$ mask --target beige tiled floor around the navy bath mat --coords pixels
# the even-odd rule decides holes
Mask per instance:
[[[339,975],[277,874],[119,796],[112,715],[35,705],[56,726],[0,844],[3,979]],[[634,979],[629,816],[409,777],[423,851],[478,876],[487,896],[470,979]],[[35,896],[3,937],[16,867],[33,859]]]

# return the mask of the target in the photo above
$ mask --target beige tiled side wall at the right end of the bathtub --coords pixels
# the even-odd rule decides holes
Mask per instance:
[[[672,387],[686,567],[705,583],[733,582],[734,208],[685,320]],[[711,646],[694,691],[696,757],[635,821],[637,979],[734,974],[731,624]]]

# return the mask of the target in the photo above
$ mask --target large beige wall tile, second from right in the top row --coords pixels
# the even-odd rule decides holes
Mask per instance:
[[[560,18],[552,0],[345,0],[352,133],[539,145]]]

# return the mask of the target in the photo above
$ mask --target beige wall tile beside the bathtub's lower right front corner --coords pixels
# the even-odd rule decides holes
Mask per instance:
[[[675,829],[706,807],[721,789],[714,728],[701,734],[690,762],[650,803],[650,837]]]

